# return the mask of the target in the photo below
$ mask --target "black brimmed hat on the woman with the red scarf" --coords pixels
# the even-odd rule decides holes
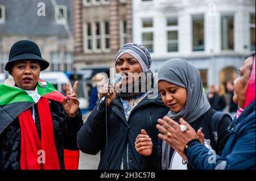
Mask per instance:
[[[38,45],[31,40],[20,40],[13,44],[9,53],[9,61],[5,65],[5,70],[11,74],[11,68],[13,68],[14,62],[19,60],[38,60],[41,71],[47,69],[49,66],[49,62],[42,58]]]

